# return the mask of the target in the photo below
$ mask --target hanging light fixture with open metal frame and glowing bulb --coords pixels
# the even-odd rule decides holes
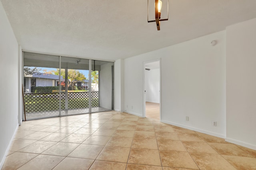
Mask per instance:
[[[169,16],[169,0],[162,0],[162,1],[161,0],[148,0],[148,22],[156,22],[156,27],[157,27],[158,31],[160,30],[160,21],[167,21],[168,16]],[[164,4],[164,7],[165,7],[164,12],[167,13],[167,14],[164,14],[164,16],[167,16],[167,18],[165,18],[165,19],[161,19],[162,4]],[[150,12],[152,13],[153,8],[155,9],[155,12],[154,12],[155,20],[149,21],[149,18],[152,18],[151,17],[152,15],[150,15]]]

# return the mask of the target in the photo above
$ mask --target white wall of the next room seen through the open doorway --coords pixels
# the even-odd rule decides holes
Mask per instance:
[[[160,68],[145,70],[146,102],[160,103]]]

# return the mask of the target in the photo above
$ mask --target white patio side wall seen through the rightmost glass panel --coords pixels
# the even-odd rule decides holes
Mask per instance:
[[[112,109],[112,66],[113,63],[106,63],[100,66],[99,71],[99,95],[100,107]]]

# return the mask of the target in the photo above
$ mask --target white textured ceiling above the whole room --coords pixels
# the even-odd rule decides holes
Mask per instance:
[[[256,0],[169,0],[147,22],[147,0],[1,0],[24,51],[114,61],[256,18]]]

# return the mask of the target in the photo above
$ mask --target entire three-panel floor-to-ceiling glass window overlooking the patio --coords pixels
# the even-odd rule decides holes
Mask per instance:
[[[113,62],[24,52],[26,119],[109,111]]]

